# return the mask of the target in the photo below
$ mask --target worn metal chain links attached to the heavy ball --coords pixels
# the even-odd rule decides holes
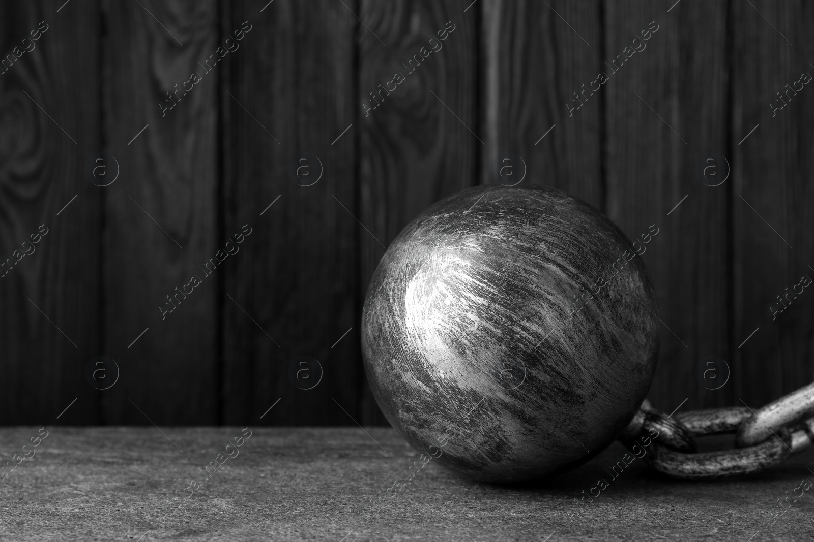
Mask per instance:
[[[696,452],[695,437],[724,433],[735,433],[736,449]],[[718,478],[772,468],[814,445],[814,384],[756,411],[734,406],[673,417],[645,400],[619,440],[631,451],[644,445],[645,461],[673,478]]]

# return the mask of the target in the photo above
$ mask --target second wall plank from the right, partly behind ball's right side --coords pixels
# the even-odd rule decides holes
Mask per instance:
[[[649,397],[667,412],[685,399],[685,409],[729,404],[731,382],[711,390],[716,384],[705,388],[695,375],[707,356],[736,369],[729,335],[731,181],[711,187],[698,176],[699,160],[729,152],[726,3],[607,2],[605,9],[607,213],[631,240],[650,239],[637,246],[663,321]],[[648,237],[653,225],[659,233]]]

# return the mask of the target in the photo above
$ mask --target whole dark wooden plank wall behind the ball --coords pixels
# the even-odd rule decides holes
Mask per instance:
[[[370,276],[410,219],[496,182],[507,153],[523,182],[584,198],[631,238],[659,228],[642,255],[663,320],[656,406],[761,405],[814,377],[814,293],[769,310],[814,277],[814,90],[769,106],[814,73],[811,4],[37,0],[0,6],[2,52],[40,21],[0,75],[0,257],[49,228],[0,279],[0,423],[385,423],[361,366]],[[119,167],[107,187],[85,172],[99,152]],[[698,166],[713,155],[729,172],[714,187]],[[303,156],[322,174],[311,186],[291,176]],[[120,368],[105,391],[85,381],[97,355]],[[316,388],[291,384],[299,355],[321,362]],[[724,387],[696,378],[706,356],[728,363]]]

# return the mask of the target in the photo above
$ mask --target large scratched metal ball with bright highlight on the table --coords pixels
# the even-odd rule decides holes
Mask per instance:
[[[418,215],[379,262],[365,372],[425,460],[482,481],[540,479],[632,419],[656,367],[656,312],[641,258],[592,206],[478,186]]]

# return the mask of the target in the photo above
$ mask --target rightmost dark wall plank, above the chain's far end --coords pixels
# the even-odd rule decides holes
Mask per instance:
[[[742,367],[735,402],[754,407],[814,378],[814,292],[795,288],[803,275],[814,279],[814,88],[793,88],[803,72],[814,75],[814,7],[752,3],[733,3],[733,345]],[[778,295],[788,308],[773,315],[770,307],[784,307]]]

